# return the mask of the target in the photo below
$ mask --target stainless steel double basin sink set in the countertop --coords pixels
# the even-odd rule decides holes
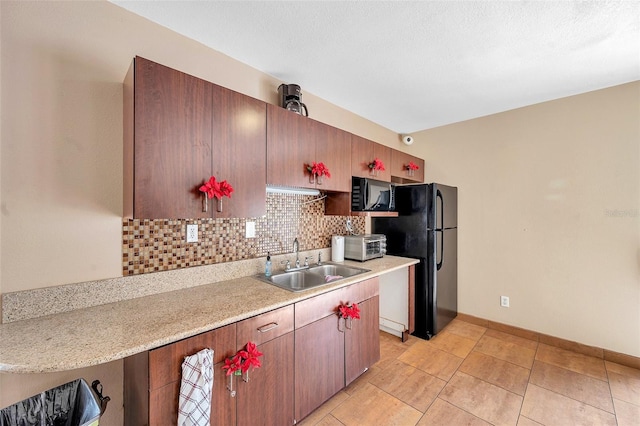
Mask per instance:
[[[258,278],[269,284],[284,288],[285,290],[297,292],[326,284],[333,284],[342,279],[370,271],[370,269],[326,262],[322,265],[310,266],[308,269],[285,271],[270,277],[260,274]]]

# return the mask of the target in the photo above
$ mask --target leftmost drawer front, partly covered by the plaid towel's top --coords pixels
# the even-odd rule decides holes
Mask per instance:
[[[149,351],[149,389],[157,389],[182,376],[184,358],[205,348],[213,349],[214,364],[235,353],[236,325],[230,324]]]

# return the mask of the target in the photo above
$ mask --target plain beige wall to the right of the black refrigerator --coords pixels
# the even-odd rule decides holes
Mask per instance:
[[[640,356],[639,82],[414,136],[459,187],[461,312]]]

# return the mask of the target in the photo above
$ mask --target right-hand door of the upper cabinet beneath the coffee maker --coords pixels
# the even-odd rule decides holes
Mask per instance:
[[[311,120],[310,120],[311,121]],[[316,161],[324,163],[331,173],[316,188],[326,191],[351,191],[351,133],[312,121],[311,134],[316,142]]]

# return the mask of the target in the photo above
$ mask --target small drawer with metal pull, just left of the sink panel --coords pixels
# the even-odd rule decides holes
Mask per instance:
[[[290,331],[293,331],[293,305],[240,321],[236,346],[240,350],[249,341],[260,345]]]

